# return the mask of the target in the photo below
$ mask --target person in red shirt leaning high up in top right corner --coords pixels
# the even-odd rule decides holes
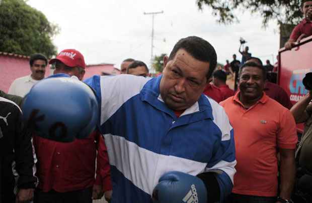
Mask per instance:
[[[301,12],[304,19],[292,30],[289,40],[285,43],[286,49],[291,49],[295,42],[300,42],[303,38],[312,35],[312,1],[303,0]]]

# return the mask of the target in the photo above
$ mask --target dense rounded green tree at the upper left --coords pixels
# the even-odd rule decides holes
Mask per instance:
[[[0,1],[0,52],[26,56],[42,53],[51,58],[57,54],[52,37],[58,32],[57,25],[26,1]]]

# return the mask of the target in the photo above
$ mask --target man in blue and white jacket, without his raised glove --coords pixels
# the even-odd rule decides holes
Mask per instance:
[[[202,94],[216,66],[213,47],[181,39],[164,72],[147,79],[94,76],[111,165],[112,202],[222,202],[235,174],[233,129]]]

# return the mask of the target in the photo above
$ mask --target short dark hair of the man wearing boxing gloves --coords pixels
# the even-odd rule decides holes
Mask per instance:
[[[209,71],[206,74],[206,78],[209,79],[211,77],[217,65],[217,54],[209,42],[196,36],[182,38],[171,51],[169,60],[172,60],[180,49],[184,49],[199,61],[209,62]]]

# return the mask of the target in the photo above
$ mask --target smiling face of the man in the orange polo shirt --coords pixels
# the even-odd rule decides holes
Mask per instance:
[[[248,100],[261,98],[264,89],[262,70],[258,67],[245,67],[242,70],[239,87],[241,96]]]

